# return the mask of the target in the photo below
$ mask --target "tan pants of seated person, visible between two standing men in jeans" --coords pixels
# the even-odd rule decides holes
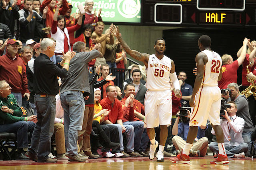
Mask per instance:
[[[64,125],[62,123],[54,123],[54,135],[57,154],[66,153]],[[77,151],[80,153],[79,145],[77,143]]]

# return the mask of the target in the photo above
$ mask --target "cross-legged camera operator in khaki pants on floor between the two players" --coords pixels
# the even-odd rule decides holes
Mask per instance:
[[[186,110],[188,115],[180,114],[180,111],[177,113],[176,121],[172,127],[172,134],[176,135],[172,138],[172,143],[177,150],[177,154],[180,154],[181,150],[186,144],[189,130],[189,119],[190,111]],[[179,123],[179,120],[181,122]],[[196,139],[193,143],[192,148],[190,149],[190,157],[204,157],[207,152],[208,139],[204,137],[204,133],[208,125],[198,127],[198,133]]]

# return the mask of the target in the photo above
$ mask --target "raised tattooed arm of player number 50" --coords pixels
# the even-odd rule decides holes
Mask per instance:
[[[142,54],[136,50],[130,49],[127,43],[122,39],[122,36],[119,32],[119,27],[116,27],[116,25],[110,25],[110,31],[116,36],[116,38],[118,39],[118,41],[120,42],[123,49],[126,51],[128,55],[130,55],[132,58],[138,61],[143,62],[145,66],[148,67],[149,54]]]

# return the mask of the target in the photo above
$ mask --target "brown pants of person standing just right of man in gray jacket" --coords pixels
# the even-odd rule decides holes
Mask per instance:
[[[92,131],[93,117],[94,107],[85,106],[83,127],[82,130],[78,133],[78,144],[80,149],[82,149],[86,155],[92,154],[90,133]]]

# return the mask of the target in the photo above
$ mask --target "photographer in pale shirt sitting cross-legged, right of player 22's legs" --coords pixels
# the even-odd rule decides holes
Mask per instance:
[[[225,119],[220,120],[220,126],[224,133],[226,154],[228,158],[245,158],[244,152],[247,152],[248,145],[244,143],[242,137],[244,119],[236,116],[238,109],[235,102],[230,101],[228,104],[230,104],[231,107],[227,108],[227,111],[224,110],[225,115],[222,115],[222,117]],[[215,135],[214,129],[212,129],[212,134]],[[213,155],[216,158],[219,152],[218,143],[211,142],[209,148],[214,152]]]

